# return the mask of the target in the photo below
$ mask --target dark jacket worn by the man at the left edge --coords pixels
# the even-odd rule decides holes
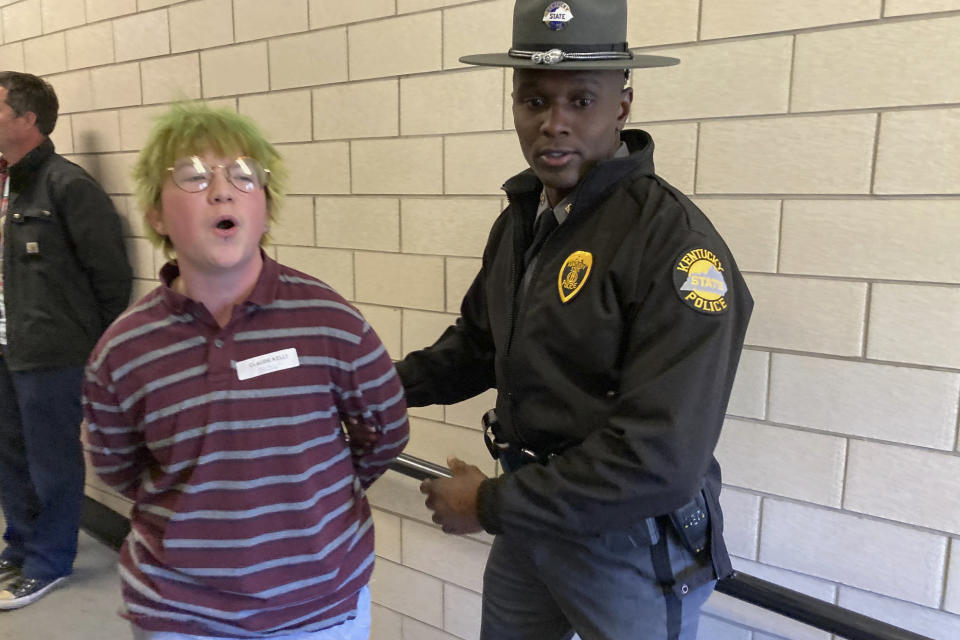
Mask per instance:
[[[83,365],[133,284],[120,217],[47,139],[9,168],[3,294],[14,371]]]

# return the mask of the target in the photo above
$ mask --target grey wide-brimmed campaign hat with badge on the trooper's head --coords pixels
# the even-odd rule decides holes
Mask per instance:
[[[460,62],[576,71],[667,67],[680,60],[630,52],[627,0],[517,0],[510,51],[463,56]]]

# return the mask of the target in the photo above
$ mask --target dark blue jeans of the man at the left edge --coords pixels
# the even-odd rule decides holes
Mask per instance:
[[[10,371],[0,356],[0,558],[28,578],[68,575],[83,505],[83,367]]]

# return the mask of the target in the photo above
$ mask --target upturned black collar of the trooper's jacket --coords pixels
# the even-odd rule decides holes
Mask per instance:
[[[653,138],[650,134],[640,129],[632,129],[620,132],[620,139],[627,143],[630,155],[604,160],[587,172],[573,191],[571,215],[580,209],[592,209],[599,200],[606,197],[612,187],[629,174],[653,175]],[[532,207],[535,211],[543,184],[533,169],[527,169],[507,180],[501,188],[507,192],[511,202],[533,199]]]

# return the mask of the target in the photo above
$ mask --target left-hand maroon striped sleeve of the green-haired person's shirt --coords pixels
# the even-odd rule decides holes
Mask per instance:
[[[91,356],[96,361],[98,350]],[[124,411],[109,381],[105,364],[88,364],[83,382],[86,450],[94,472],[109,487],[136,499],[143,473],[152,458],[143,430]]]

